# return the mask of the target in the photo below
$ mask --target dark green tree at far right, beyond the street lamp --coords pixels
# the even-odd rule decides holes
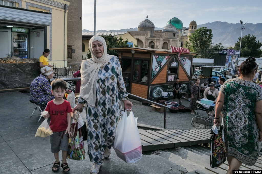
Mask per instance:
[[[239,37],[237,43],[235,43],[235,50],[239,50],[240,40],[241,37]],[[241,57],[260,57],[262,54],[262,50],[260,49],[261,46],[262,43],[256,41],[256,37],[253,34],[252,36],[250,34],[245,35],[241,40],[240,55]]]

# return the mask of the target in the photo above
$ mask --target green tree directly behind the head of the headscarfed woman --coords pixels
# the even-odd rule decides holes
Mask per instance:
[[[109,35],[101,35],[106,41],[106,46],[107,46],[107,54],[109,55],[114,55],[118,56],[118,52],[116,50],[109,50],[110,48],[117,48],[117,47],[128,47],[128,39],[123,41],[124,39],[120,36],[119,39],[117,36],[112,36],[111,34]],[[86,53],[86,56],[88,59],[91,58],[91,52],[88,50],[89,53]]]

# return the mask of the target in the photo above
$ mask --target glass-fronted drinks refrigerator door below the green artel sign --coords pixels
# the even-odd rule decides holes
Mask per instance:
[[[20,57],[20,59],[28,58],[28,34],[12,33],[13,40],[13,56]]]

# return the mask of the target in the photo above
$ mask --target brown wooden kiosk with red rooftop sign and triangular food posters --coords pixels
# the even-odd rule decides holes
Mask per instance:
[[[118,51],[127,92],[131,94],[154,101],[162,98],[162,92],[167,92],[171,99],[176,78],[179,77],[180,83],[188,83],[191,79],[191,62],[196,53],[188,49],[181,47],[177,52],[137,47],[111,49]]]

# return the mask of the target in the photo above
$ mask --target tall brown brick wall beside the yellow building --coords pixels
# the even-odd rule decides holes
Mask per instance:
[[[72,45],[75,53],[67,58],[67,66],[78,70],[82,62],[82,0],[69,0],[67,14],[67,45]]]

